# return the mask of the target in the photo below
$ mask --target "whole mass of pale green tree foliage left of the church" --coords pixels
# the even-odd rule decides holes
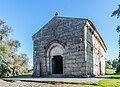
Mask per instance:
[[[6,74],[15,76],[16,73],[27,71],[27,55],[17,53],[20,43],[9,38],[11,31],[11,28],[0,19],[0,77]]]

